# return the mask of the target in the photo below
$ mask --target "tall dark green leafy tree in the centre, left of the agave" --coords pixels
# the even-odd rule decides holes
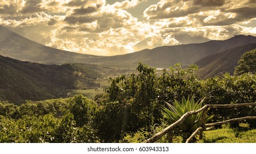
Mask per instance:
[[[160,114],[155,69],[139,63],[137,70],[137,75],[121,75],[110,80],[107,100],[96,116],[98,132],[104,142],[119,141],[124,134],[148,125],[152,115]]]

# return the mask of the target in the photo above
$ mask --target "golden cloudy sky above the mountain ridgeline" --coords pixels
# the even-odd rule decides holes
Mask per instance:
[[[1,0],[0,25],[46,46],[113,56],[256,36],[256,0]]]

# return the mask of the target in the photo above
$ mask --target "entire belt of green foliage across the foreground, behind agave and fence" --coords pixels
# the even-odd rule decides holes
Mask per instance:
[[[165,127],[163,107],[168,108],[168,103],[174,106],[174,100],[182,102],[182,97],[204,98],[202,105],[256,102],[255,74],[201,80],[196,70],[195,65],[184,69],[176,64],[159,73],[139,63],[137,73],[111,78],[105,94],[96,96],[95,101],[77,95],[27,101],[20,106],[2,102],[0,142],[141,141],[149,138],[156,126]],[[213,121],[220,121],[255,116],[255,112],[255,107],[243,107],[210,109],[208,114],[214,114]],[[247,122],[255,126],[255,120]]]

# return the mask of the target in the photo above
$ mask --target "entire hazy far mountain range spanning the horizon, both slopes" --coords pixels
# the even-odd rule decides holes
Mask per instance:
[[[92,56],[68,51],[62,51],[40,45],[0,26],[0,55],[19,59],[21,61],[38,62],[46,64],[64,64],[69,62],[91,63],[107,67],[138,66],[138,62],[148,64],[150,67],[169,68],[175,63],[184,65],[194,64],[201,58],[211,56],[228,49],[256,43],[256,37],[238,35],[228,40],[212,40],[205,43],[192,43],[187,45],[163,46],[146,49],[118,56]]]

